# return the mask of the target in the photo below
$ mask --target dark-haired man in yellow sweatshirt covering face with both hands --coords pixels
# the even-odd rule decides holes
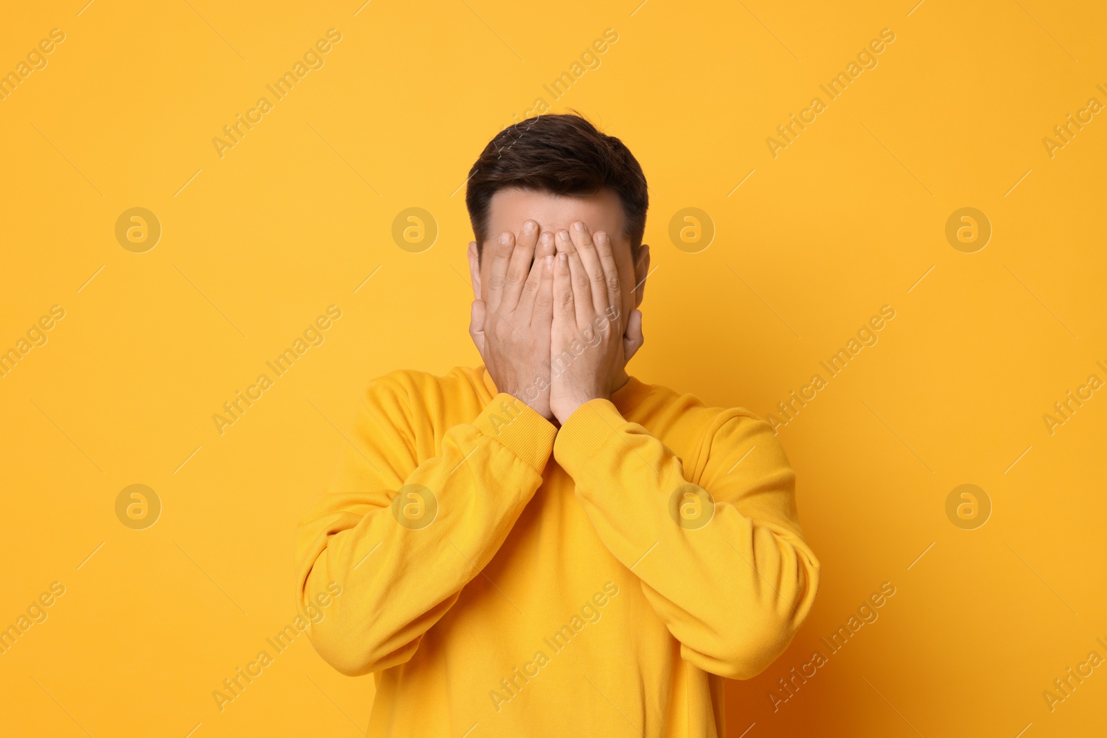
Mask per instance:
[[[723,677],[768,666],[818,586],[787,457],[752,413],[628,376],[650,251],[622,142],[516,124],[466,204],[484,365],[370,384],[298,531],[311,641],[374,674],[371,736],[722,736]]]

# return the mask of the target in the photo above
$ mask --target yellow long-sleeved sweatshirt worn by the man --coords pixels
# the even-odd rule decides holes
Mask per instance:
[[[723,677],[814,604],[795,475],[747,410],[631,377],[559,429],[484,366],[394,372],[350,441],[298,597],[329,603],[319,654],[374,674],[370,736],[722,736]]]

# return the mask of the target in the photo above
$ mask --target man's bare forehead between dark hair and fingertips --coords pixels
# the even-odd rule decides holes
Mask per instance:
[[[567,229],[577,220],[582,220],[590,230],[608,231],[613,238],[623,230],[622,204],[611,190],[571,196],[513,187],[493,195],[490,206],[493,237],[499,230],[516,230],[528,218],[542,231]]]

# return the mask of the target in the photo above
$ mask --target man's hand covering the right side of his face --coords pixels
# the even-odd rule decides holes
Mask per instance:
[[[580,221],[570,229],[557,233],[554,266],[549,402],[562,424],[627,382],[627,362],[643,341],[632,268],[620,274],[607,233],[593,239]]]

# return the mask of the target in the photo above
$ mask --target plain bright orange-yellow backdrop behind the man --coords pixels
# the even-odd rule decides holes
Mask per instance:
[[[479,361],[462,185],[537,97],[621,137],[649,177],[643,381],[767,415],[896,310],[779,430],[824,580],[792,647],[727,685],[730,735],[1101,734],[1103,668],[1053,711],[1042,693],[1107,657],[1107,398],[1053,434],[1043,415],[1107,380],[1107,122],[1052,157],[1043,137],[1107,103],[1107,12],[639,2],[4,11],[0,72],[51,29],[65,40],[0,101],[0,351],[65,314],[0,377],[0,626],[65,592],[0,655],[0,734],[360,732],[372,679],[306,638],[224,711],[211,692],[293,619],[293,529],[366,382]],[[213,138],[332,28],[324,65],[220,158]],[[544,85],[609,28],[554,100]],[[827,100],[886,28],[878,65]],[[774,158],[766,137],[817,95]],[[115,237],[133,207],[162,227],[141,253]],[[410,207],[437,226],[418,253],[392,237]],[[715,229],[697,252],[669,237],[687,207]],[[945,237],[963,207],[993,229],[973,253]],[[325,342],[220,435],[213,414],[332,304]],[[144,530],[116,518],[133,484],[163,506]],[[974,530],[946,516],[962,484],[992,505]],[[883,582],[879,620],[774,711],[777,680]]]

